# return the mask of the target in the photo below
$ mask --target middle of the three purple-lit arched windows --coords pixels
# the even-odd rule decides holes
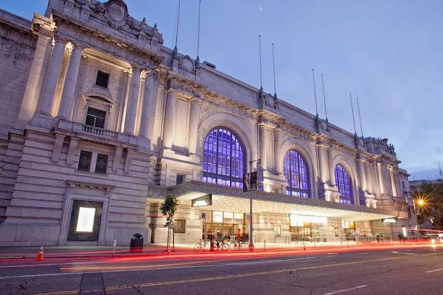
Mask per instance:
[[[286,194],[309,198],[308,169],[302,158],[295,150],[288,150],[283,160],[284,177],[288,186]]]

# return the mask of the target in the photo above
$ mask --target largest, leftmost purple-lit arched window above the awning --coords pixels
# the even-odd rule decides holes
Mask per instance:
[[[230,130],[216,128],[207,134],[203,147],[203,181],[243,187],[243,147]]]

